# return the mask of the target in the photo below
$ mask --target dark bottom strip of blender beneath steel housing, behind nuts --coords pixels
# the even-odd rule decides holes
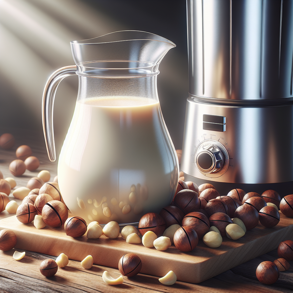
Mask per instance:
[[[293,181],[290,182],[281,182],[281,183],[264,183],[264,184],[246,184],[246,183],[226,183],[226,182],[217,182],[211,180],[199,179],[193,176],[190,176],[184,173],[184,181],[193,181],[197,186],[209,183],[212,184],[220,195],[226,195],[230,190],[234,188],[239,188],[248,192],[257,192],[262,194],[265,190],[272,189],[277,191],[280,194],[281,198],[293,193]]]

